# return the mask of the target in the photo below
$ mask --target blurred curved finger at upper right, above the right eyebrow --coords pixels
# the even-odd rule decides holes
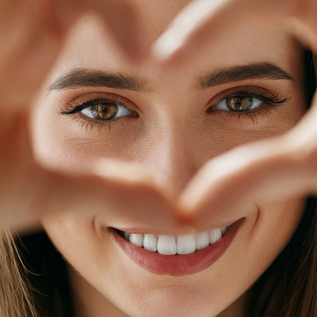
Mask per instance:
[[[272,25],[284,21],[300,41],[316,47],[315,0],[193,0],[159,37],[152,53],[162,63],[179,66],[243,20]]]

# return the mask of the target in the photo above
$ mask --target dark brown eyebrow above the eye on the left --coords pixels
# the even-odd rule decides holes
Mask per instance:
[[[144,91],[145,88],[140,80],[120,73],[110,74],[86,68],[76,68],[66,75],[58,77],[48,90],[62,90],[66,88],[86,87],[107,87],[127,89],[132,91]]]

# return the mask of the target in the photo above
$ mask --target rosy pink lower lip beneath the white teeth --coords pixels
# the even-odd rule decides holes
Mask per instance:
[[[244,218],[237,220],[216,243],[186,255],[162,255],[137,247],[125,240],[114,228],[109,229],[114,240],[134,263],[155,274],[184,276],[198,273],[216,262],[229,248],[243,222]]]

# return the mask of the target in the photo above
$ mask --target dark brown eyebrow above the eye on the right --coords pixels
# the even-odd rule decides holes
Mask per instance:
[[[199,86],[203,89],[246,79],[288,79],[292,76],[283,69],[268,62],[252,63],[214,71],[199,79]]]

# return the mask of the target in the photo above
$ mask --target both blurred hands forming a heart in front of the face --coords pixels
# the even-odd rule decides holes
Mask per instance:
[[[56,7],[52,8],[54,3]],[[145,226],[156,222],[177,233],[186,222],[202,231],[214,221],[212,210],[218,215],[221,211],[234,214],[238,207],[248,207],[254,202],[316,193],[315,100],[303,120],[285,136],[239,147],[212,159],[195,175],[178,202],[171,202],[163,190],[152,185],[146,173],[131,166],[113,163],[109,173],[110,169],[103,166],[110,163],[105,162],[82,175],[57,174],[39,166],[33,159],[26,132],[28,106],[59,52],[63,35],[82,10],[97,8],[103,14],[105,21],[110,22],[108,26],[114,38],[131,61],[141,55],[137,23],[125,2],[96,0],[88,5],[88,1],[82,0],[80,5],[75,3],[78,2],[34,1],[32,7],[17,1],[2,4],[0,10],[2,228],[27,229],[38,223],[43,211],[115,213],[120,210],[122,216],[124,212],[132,212]],[[119,18],[120,14],[125,18]],[[237,14],[239,19],[252,17],[264,24],[283,20],[290,32],[313,51],[316,47],[315,0],[304,3],[196,0],[190,2],[159,38],[153,48],[153,58],[173,67],[190,62],[199,50],[210,45],[210,39],[216,39],[226,27],[239,23],[239,19],[235,19]],[[224,199],[228,186],[237,190],[230,199]],[[148,212],[149,209],[153,212]]]

